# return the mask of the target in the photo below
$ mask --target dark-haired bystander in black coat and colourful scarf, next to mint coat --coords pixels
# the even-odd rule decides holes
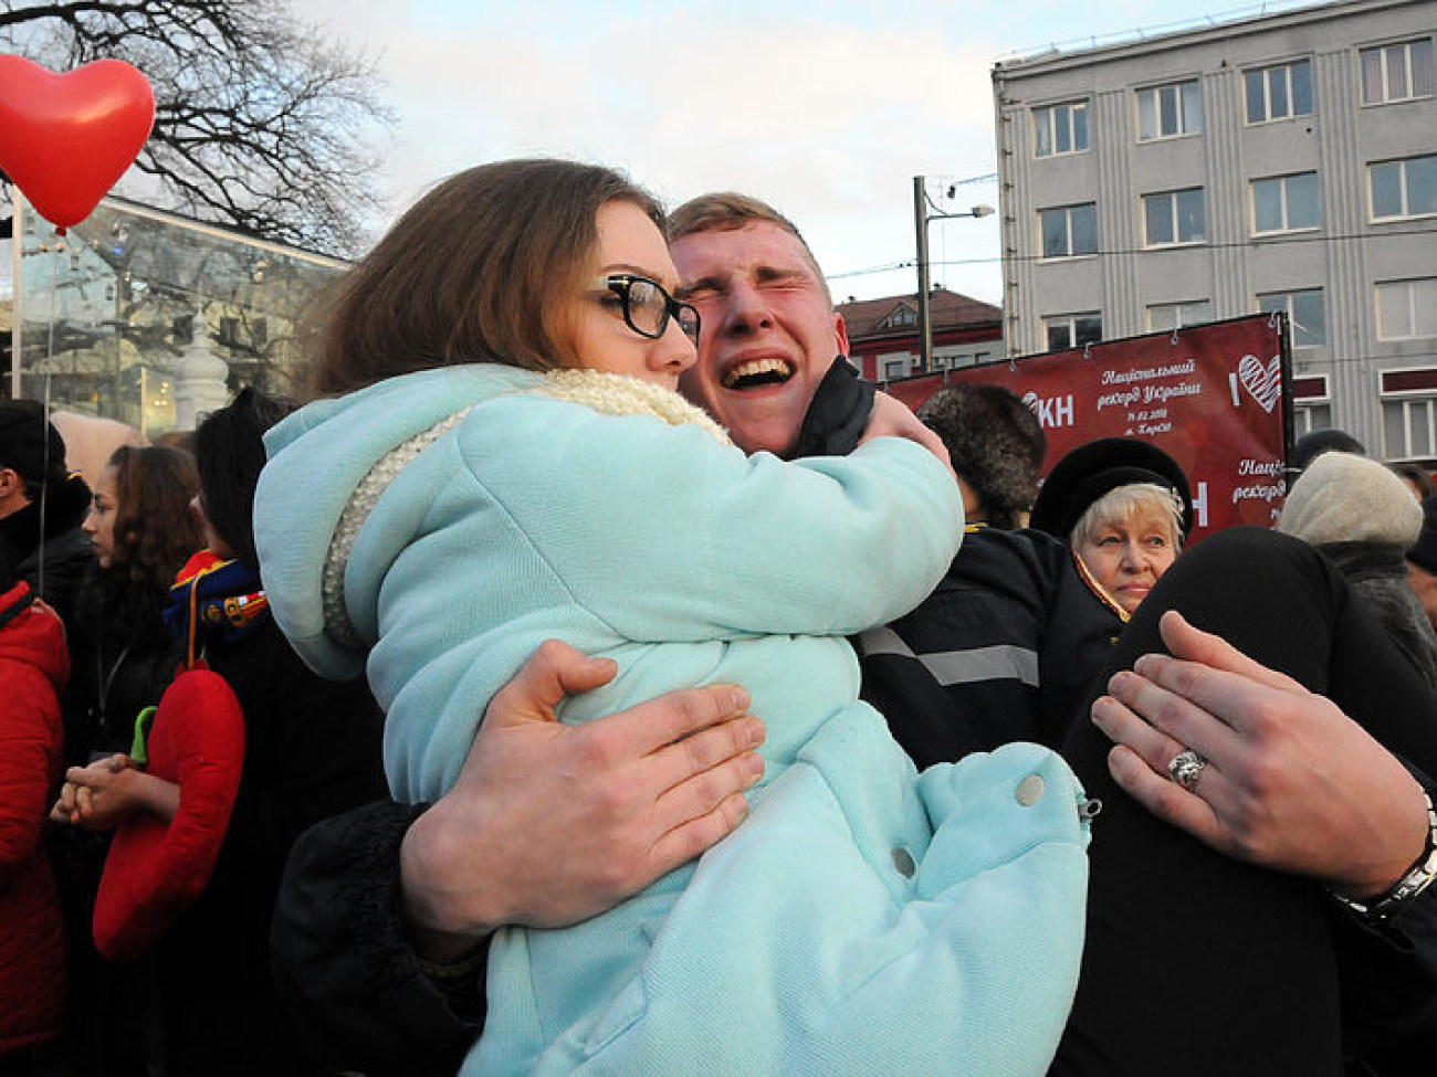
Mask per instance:
[[[246,389],[197,431],[194,508],[208,551],[180,573],[165,612],[185,665],[203,659],[223,676],[244,718],[239,796],[214,873],[154,961],[162,1051],[151,1061],[171,1076],[325,1071],[280,1010],[270,915],[297,834],[385,788],[381,714],[364,682],[312,673],[276,628],[260,586],[250,511],[263,432],[285,411]],[[78,787],[91,771],[68,778]],[[112,801],[108,821],[128,810]]]

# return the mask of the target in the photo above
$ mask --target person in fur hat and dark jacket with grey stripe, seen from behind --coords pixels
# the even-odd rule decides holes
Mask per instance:
[[[1066,544],[1012,530],[1038,497],[1046,449],[1016,393],[958,385],[917,415],[954,461],[963,546],[921,606],[854,640],[864,698],[920,770],[1013,740],[1056,747],[1127,617],[1088,586]]]

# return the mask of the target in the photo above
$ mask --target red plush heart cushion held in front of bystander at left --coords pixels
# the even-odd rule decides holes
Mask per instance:
[[[168,823],[144,813],[115,829],[95,900],[95,945],[111,961],[151,949],[210,882],[244,761],[244,717],[208,669],[181,672],[160,699],[149,773],[180,785]]]

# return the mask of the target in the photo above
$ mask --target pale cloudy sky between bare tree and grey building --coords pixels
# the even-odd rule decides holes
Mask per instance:
[[[912,177],[997,205],[990,69],[1300,7],[1269,0],[295,0],[378,57],[398,125],[384,187],[402,210],[480,161],[616,165],[670,204],[740,190],[802,228],[835,297],[912,292]],[[930,224],[935,283],[997,302],[999,230]],[[907,263],[901,270],[868,271]]]

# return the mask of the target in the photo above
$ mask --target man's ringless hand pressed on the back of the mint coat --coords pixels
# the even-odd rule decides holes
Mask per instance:
[[[616,666],[549,640],[490,701],[454,787],[399,850],[415,949],[454,961],[506,923],[601,913],[694,859],[747,814],[763,724],[734,685],[671,692],[585,725],[565,695]]]

